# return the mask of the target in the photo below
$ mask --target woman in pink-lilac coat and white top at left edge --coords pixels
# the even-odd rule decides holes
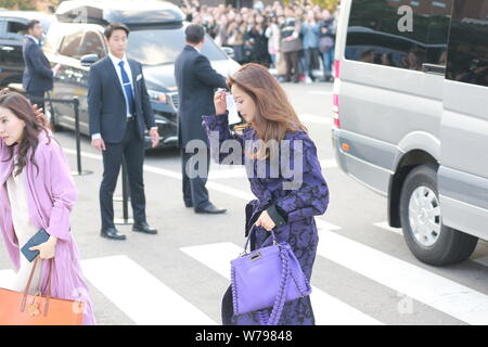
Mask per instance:
[[[40,115],[42,116],[42,115]],[[20,248],[39,229],[49,240],[39,250],[31,292],[48,292],[49,261],[53,259],[51,296],[85,301],[84,324],[94,324],[79,253],[69,229],[77,190],[67,160],[52,133],[18,93],[0,95],[0,229],[17,271],[10,290],[24,292],[33,262]],[[42,271],[39,271],[42,268]],[[39,272],[41,273],[39,275]]]

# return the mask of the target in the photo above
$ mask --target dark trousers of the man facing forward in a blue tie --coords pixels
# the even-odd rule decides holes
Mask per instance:
[[[136,123],[127,121],[121,143],[105,143],[103,154],[103,179],[100,185],[100,209],[102,229],[114,228],[114,191],[120,171],[123,157],[127,164],[132,216],[137,223],[145,222],[145,195],[142,166],[144,142],[138,137]]]

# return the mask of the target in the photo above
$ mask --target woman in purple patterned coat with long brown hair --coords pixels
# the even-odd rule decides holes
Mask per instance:
[[[256,226],[251,236],[252,249],[271,245],[269,231],[272,229],[278,242],[290,243],[310,280],[319,242],[313,216],[324,214],[329,204],[329,189],[317,158],[317,149],[284,90],[265,67],[244,65],[230,78],[229,87],[246,123],[242,131],[229,130],[226,93],[222,91],[217,92],[214,100],[217,115],[203,116],[203,125],[216,160],[221,163],[231,153],[233,158],[241,157],[233,164],[246,165],[251,190],[257,197],[246,206],[246,236],[251,227]],[[232,152],[219,151],[224,142],[234,146]],[[278,145],[273,146],[273,142]],[[264,144],[270,144],[269,150]],[[273,169],[278,169],[274,171],[278,175],[272,174]],[[268,309],[268,314],[270,311]],[[229,288],[222,300],[222,323],[259,324],[258,312],[233,314]],[[286,303],[279,324],[314,324],[310,298]]]

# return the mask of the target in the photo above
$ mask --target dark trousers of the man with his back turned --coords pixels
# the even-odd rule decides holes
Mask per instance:
[[[195,153],[185,153],[184,146],[181,147],[181,165],[183,174],[183,201],[187,205],[193,205],[194,208],[204,208],[209,204],[208,191],[205,188],[208,178],[208,170],[210,169],[210,151],[208,146],[201,147],[198,151],[201,155],[206,155],[206,169],[202,168],[204,175],[195,178],[190,178],[187,171],[187,164]],[[204,163],[201,163],[204,164]],[[198,170],[200,165],[191,165],[192,169]]]

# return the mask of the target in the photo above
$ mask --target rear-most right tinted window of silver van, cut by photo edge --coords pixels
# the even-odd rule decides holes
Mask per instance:
[[[488,87],[488,0],[455,0],[446,77]]]

